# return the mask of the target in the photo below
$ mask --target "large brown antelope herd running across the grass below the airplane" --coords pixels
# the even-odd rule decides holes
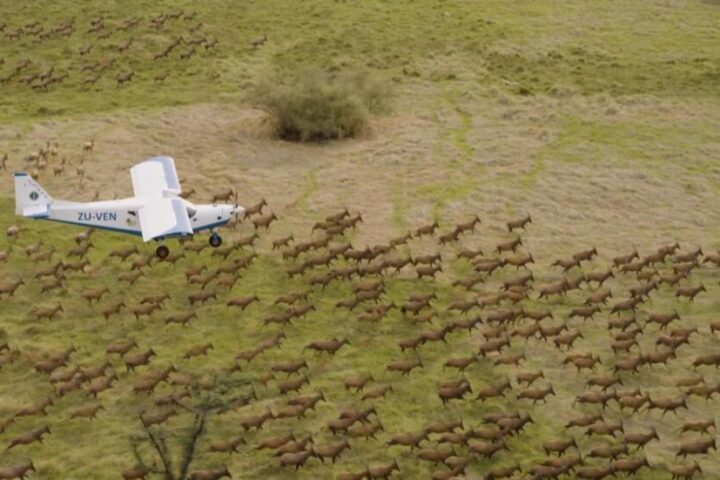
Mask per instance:
[[[202,362],[215,359],[215,380],[244,376],[251,393],[208,429],[197,461],[207,467],[188,478],[245,478],[244,455],[266,478],[278,468],[341,479],[720,475],[720,321],[701,320],[700,308],[717,292],[720,253],[672,243],[536,259],[530,215],[493,245],[470,216],[360,246],[363,223],[345,208],[283,231],[262,199],[231,226],[242,231],[234,241],[211,250],[188,240],[165,260],[137,244],[101,249],[92,230],[56,244],[31,243],[30,225],[9,229],[0,309],[43,292],[23,321],[84,309],[127,328],[101,351],[70,341],[39,351],[8,335],[0,379],[44,386],[37,401],[0,408],[0,445],[24,453],[0,460],[0,478],[42,477],[33,445],[52,451],[58,424],[92,435],[117,402],[141,407],[127,419],[138,429],[180,422]],[[184,288],[163,282],[174,274]],[[77,291],[84,277],[97,285]],[[241,319],[234,351],[211,334],[171,352],[131,327],[192,337],[218,315]],[[93,353],[103,360],[88,362]],[[156,475],[127,462],[125,479]]]

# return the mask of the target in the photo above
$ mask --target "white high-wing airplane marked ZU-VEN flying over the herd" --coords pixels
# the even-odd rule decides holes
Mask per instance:
[[[210,245],[219,247],[222,238],[215,228],[245,211],[238,205],[195,205],[181,198],[175,162],[170,157],[153,157],[133,166],[130,177],[135,196],[120,200],[56,200],[27,173],[14,175],[16,215],[139,235],[145,242],[210,230]],[[161,244],[155,253],[165,258],[170,250]]]

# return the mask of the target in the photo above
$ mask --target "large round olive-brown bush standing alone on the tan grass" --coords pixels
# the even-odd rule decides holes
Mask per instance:
[[[270,113],[274,133],[302,142],[357,136],[370,115],[386,107],[389,96],[386,85],[368,72],[320,68],[274,75],[253,93],[257,105]]]

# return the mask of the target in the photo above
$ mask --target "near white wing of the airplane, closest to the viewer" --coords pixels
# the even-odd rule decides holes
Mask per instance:
[[[157,237],[193,233],[187,209],[179,198],[162,198],[157,194],[148,198],[138,209],[138,219],[146,242]]]

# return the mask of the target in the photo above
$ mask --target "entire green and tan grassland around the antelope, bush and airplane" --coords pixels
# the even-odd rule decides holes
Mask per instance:
[[[149,19],[161,12],[196,11],[192,20],[168,20],[163,28],[150,27]],[[140,24],[126,32],[114,32],[105,40],[88,33],[90,20],[103,15],[110,27],[134,16]],[[188,255],[175,267],[158,264],[128,288],[118,282],[129,266],[108,260],[107,254],[134,240],[114,234],[96,234],[90,250],[88,274],[68,274],[62,290],[41,294],[30,280],[38,268],[23,247],[43,241],[59,257],[74,246],[77,230],[57,224],[20,220],[13,215],[10,175],[0,179],[0,226],[20,226],[20,239],[0,240],[0,251],[9,250],[0,263],[0,281],[22,277],[28,285],[16,296],[0,300],[0,327],[22,359],[0,369],[0,421],[51,393],[47,380],[32,370],[43,352],[57,352],[75,345],[73,363],[97,365],[113,340],[133,337],[158,353],[153,367],[174,363],[179,370],[203,377],[227,380],[220,372],[238,351],[252,348],[277,328],[263,326],[262,319],[275,311],[270,304],[279,294],[303,288],[301,279],[288,280],[286,264],[270,250],[270,240],[294,233],[306,239],[316,220],[341,206],[362,212],[364,223],[349,240],[361,247],[387,241],[433,220],[447,231],[454,222],[478,214],[483,225],[464,237],[465,247],[493,246],[508,238],[504,222],[530,212],[533,224],[524,234],[526,251],[537,264],[531,269],[536,282],[559,278],[550,268],[552,260],[569,252],[596,245],[600,259],[593,269],[607,265],[614,254],[632,246],[648,253],[660,245],[679,241],[687,251],[701,245],[706,252],[720,248],[720,50],[717,48],[720,7],[703,1],[324,1],[280,0],[231,2],[111,2],[82,4],[62,0],[0,3],[0,23],[14,30],[37,20],[46,28],[75,19],[76,32],[39,42],[24,35],[18,40],[0,34],[0,77],[8,75],[24,59],[32,64],[7,84],[0,84],[0,156],[9,156],[8,168],[26,167],[23,159],[45,145],[58,142],[59,155],[67,159],[66,172],[41,174],[41,182],[57,197],[89,200],[130,194],[127,169],[154,154],[175,157],[183,185],[194,187],[198,198],[226,186],[239,192],[241,204],[265,197],[280,220],[263,234],[259,258],[238,284],[216,302],[198,307],[191,326],[164,326],[166,312],[186,311],[189,290],[183,272],[192,266],[217,265],[206,250]],[[202,23],[194,33],[189,28]],[[112,30],[112,28],[110,28]],[[267,42],[253,48],[250,40],[267,35]],[[177,36],[217,39],[212,49],[181,60],[180,47],[169,58],[153,55]],[[132,39],[125,53],[118,45]],[[79,49],[92,45],[87,55]],[[83,82],[94,74],[84,65],[115,59],[93,85]],[[290,72],[307,65],[331,71],[368,70],[392,86],[392,106],[376,116],[370,131],[343,142],[301,145],[280,142],[267,133],[267,117],[255,108],[247,92],[272,74]],[[20,77],[55,67],[68,73],[61,84],[36,91],[20,83]],[[116,86],[118,74],[134,71],[133,80]],[[168,73],[164,81],[155,77]],[[94,139],[89,155],[82,145]],[[82,182],[74,173],[85,169]],[[227,232],[226,239],[248,234],[247,226]],[[204,240],[203,240],[204,241]],[[175,244],[172,248],[177,249]],[[388,299],[404,301],[415,291],[438,293],[436,307],[443,311],[451,301],[464,297],[450,282],[467,275],[467,263],[455,260],[460,245],[443,247],[445,272],[435,282],[414,279],[405,271],[388,282]],[[147,245],[144,253],[152,251]],[[405,249],[405,247],[403,247]],[[438,249],[430,240],[413,241],[413,254]],[[56,257],[58,258],[58,257]],[[508,271],[482,285],[492,292],[512,276]],[[639,386],[654,396],[677,393],[674,381],[686,374],[696,354],[715,351],[717,337],[707,324],[717,311],[718,273],[703,267],[691,283],[703,282],[709,292],[695,304],[677,303],[673,290],[663,287],[654,294],[647,310],[677,308],[687,326],[698,326],[692,349],[681,347],[678,360],[668,367],[645,367],[642,375],[628,377],[626,387]],[[624,291],[633,282],[621,278],[611,284]],[[135,320],[123,313],[109,321],[98,315],[79,295],[88,288],[107,285],[110,295],[101,304],[125,300],[134,304],[148,293],[168,292],[165,311],[149,320]],[[211,284],[212,286],[212,284]],[[225,307],[232,296],[257,293],[262,305],[243,313]],[[377,326],[358,322],[355,314],[332,306],[351,293],[350,284],[332,284],[313,293],[318,306],[307,319],[286,327],[287,339],[280,349],[264,353],[241,372],[230,377],[238,386],[233,395],[247,393],[253,383],[258,400],[239,410],[214,417],[199,445],[194,467],[226,463],[234,478],[330,478],[366,464],[398,458],[403,478],[427,477],[433,467],[417,460],[406,449],[386,449],[391,433],[418,431],[429,421],[462,417],[476,426],[489,411],[521,409],[532,413],[535,424],[509,442],[510,452],[492,461],[474,461],[467,478],[480,478],[490,465],[519,463],[528,467],[543,457],[544,439],[563,437],[562,425],[575,412],[593,408],[574,407],[572,399],[583,391],[584,378],[562,365],[562,354],[539,341],[514,343],[511,353],[524,351],[523,370],[543,369],[557,395],[546,405],[531,407],[516,401],[513,390],[507,400],[480,404],[472,400],[451,402],[447,407],[436,396],[441,377],[456,377],[443,369],[450,356],[461,356],[482,343],[479,332],[454,333],[448,345],[427,345],[420,356],[421,371],[400,379],[385,371],[401,354],[399,339],[417,333],[418,327],[393,311]],[[551,308],[565,318],[582,295],[553,302]],[[64,312],[52,321],[36,321],[33,306],[61,302]],[[540,304],[527,302],[528,307]],[[644,307],[645,308],[645,307]],[[454,319],[446,315],[435,326]],[[607,316],[583,324],[574,351],[601,356],[605,371],[612,364]],[[655,327],[641,341],[641,349],[653,345]],[[275,382],[258,384],[270,365],[303,355],[311,340],[332,336],[350,338],[351,345],[333,357],[304,355],[311,365],[311,385],[304,392],[322,389],[321,402],[307,418],[276,420],[264,432],[249,433],[250,444],[275,433],[313,433],[318,442],[330,439],[324,425],[340,410],[359,404],[359,395],[345,391],[342,380],[372,372],[377,383],[392,382],[395,391],[376,402],[385,433],[377,440],[353,440],[353,449],[336,466],[310,460],[299,472],[277,466],[270,453],[241,447],[227,456],[208,452],[211,440],[228,438],[239,430],[239,419],[282,405]],[[212,341],[207,357],[186,361],[184,352],[193,345]],[[1,343],[1,342],[0,342]],[[683,350],[686,349],[686,350]],[[692,351],[691,351],[692,350]],[[35,460],[37,478],[110,479],[132,465],[129,437],[140,431],[138,413],[151,399],[132,393],[135,376],[113,360],[119,374],[116,386],[101,395],[106,410],[92,422],[69,420],[70,412],[86,403],[81,392],[72,393],[48,408],[47,419],[19,419],[0,435],[0,448],[20,432],[47,422],[52,434],[44,444],[19,447],[0,456],[0,466]],[[474,389],[492,384],[516,369],[498,367],[483,360],[467,372]],[[716,372],[703,371],[708,383]],[[163,385],[158,393],[169,391]],[[657,426],[661,442],[651,443],[646,454],[653,470],[640,478],[670,478],[666,467],[681,436],[684,419],[716,417],[717,400],[692,398],[689,411],[661,417],[658,412],[626,418],[629,430]],[[608,419],[621,415],[611,407]],[[189,416],[170,420],[169,429],[180,431]],[[582,440],[588,447],[594,441]],[[701,457],[703,478],[717,478],[717,453]],[[35,478],[33,477],[33,478]]]

